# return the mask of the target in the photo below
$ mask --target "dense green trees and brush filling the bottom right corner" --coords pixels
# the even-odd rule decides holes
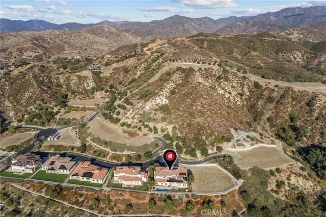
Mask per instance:
[[[281,170],[277,170],[281,173]],[[239,196],[247,208],[248,216],[321,216],[320,207],[326,207],[326,200],[322,196],[312,201],[306,194],[292,192],[290,204],[271,195],[267,190],[270,171],[258,167],[250,169],[249,173],[243,171],[243,179],[246,180],[239,188]],[[277,180],[276,188],[285,186],[284,181]],[[326,210],[326,209],[324,209]]]

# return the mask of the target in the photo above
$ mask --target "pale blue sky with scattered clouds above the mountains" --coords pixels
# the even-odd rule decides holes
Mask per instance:
[[[42,19],[52,23],[162,20],[179,14],[187,17],[253,16],[289,7],[326,5],[318,1],[255,0],[25,0],[0,2],[0,17],[12,20]]]

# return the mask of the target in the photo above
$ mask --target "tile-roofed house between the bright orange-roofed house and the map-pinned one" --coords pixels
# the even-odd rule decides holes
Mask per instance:
[[[147,168],[138,166],[117,166],[113,173],[113,183],[121,183],[123,187],[143,185],[147,181]]]

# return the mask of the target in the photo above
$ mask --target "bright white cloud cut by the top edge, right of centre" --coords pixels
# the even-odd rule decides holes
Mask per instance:
[[[171,0],[191,8],[228,8],[238,6],[233,0]]]

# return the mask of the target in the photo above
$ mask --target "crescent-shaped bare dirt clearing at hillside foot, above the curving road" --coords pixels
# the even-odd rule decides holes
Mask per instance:
[[[121,129],[112,124],[102,120],[99,117],[96,117],[89,123],[91,132],[101,139],[112,141],[116,143],[122,143],[132,146],[141,146],[146,143],[152,142],[154,139],[150,137],[137,137],[137,139],[129,137],[128,134],[125,134]]]

